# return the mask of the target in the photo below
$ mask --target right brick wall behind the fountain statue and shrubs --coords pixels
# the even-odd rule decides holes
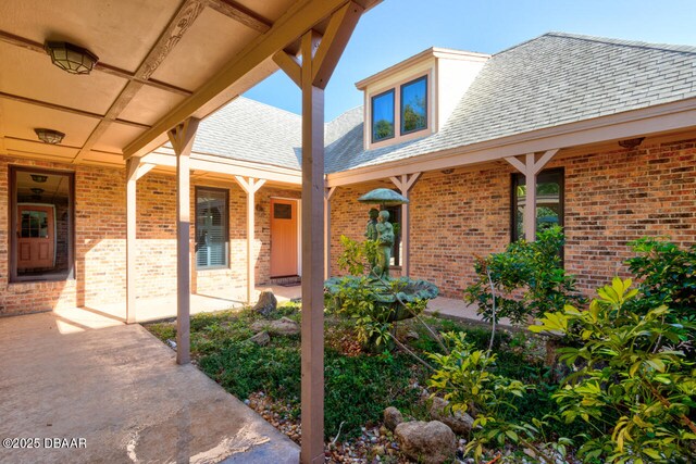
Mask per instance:
[[[566,268],[594,294],[614,274],[627,275],[626,242],[670,236],[696,242],[696,141],[646,145],[638,150],[559,155],[564,167]],[[474,256],[510,240],[510,175],[505,162],[450,174],[424,173],[411,191],[411,277],[461,298],[472,283]],[[393,188],[391,185],[385,185]],[[332,273],[339,275],[338,237],[362,239],[369,206],[356,200],[377,186],[339,187],[332,199]]]

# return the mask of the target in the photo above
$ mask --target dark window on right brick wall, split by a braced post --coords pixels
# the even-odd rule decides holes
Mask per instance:
[[[524,204],[526,180],[523,174],[512,175],[512,241],[524,238]],[[536,229],[563,226],[563,170],[543,171],[536,177]]]

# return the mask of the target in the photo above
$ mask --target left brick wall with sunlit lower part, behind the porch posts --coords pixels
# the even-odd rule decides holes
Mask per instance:
[[[0,209],[0,315],[125,301],[125,174],[123,170],[69,165],[0,156],[0,201],[9,205],[8,166],[75,172],[75,279],[9,283],[9,209]],[[195,217],[192,183],[191,217]],[[221,188],[219,185],[211,187]],[[199,271],[199,293],[246,298],[246,193],[229,192],[228,269]],[[299,198],[299,191],[262,188],[256,198],[257,284],[270,279],[270,198]],[[176,289],[176,193],[174,176],[150,173],[137,184],[138,298],[171,296]],[[194,240],[194,227],[190,238]]]

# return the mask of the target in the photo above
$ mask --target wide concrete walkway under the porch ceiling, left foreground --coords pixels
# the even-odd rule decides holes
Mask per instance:
[[[0,448],[0,462],[298,462],[293,441],[174,358],[141,326],[94,312],[0,318],[0,438],[38,439]]]

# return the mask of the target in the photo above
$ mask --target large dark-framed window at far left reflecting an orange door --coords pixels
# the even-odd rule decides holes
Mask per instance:
[[[10,167],[10,279],[74,277],[74,174]]]

